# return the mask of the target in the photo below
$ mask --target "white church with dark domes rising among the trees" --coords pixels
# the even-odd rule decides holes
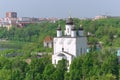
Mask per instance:
[[[82,26],[76,30],[71,17],[66,20],[64,35],[62,33],[61,27],[58,26],[57,37],[53,39],[52,64],[66,59],[69,66],[75,57],[87,53],[87,37],[84,36]]]

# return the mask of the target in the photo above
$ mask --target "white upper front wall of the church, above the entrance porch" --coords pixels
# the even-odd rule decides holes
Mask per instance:
[[[76,55],[76,38],[54,38],[54,54],[64,51]]]

